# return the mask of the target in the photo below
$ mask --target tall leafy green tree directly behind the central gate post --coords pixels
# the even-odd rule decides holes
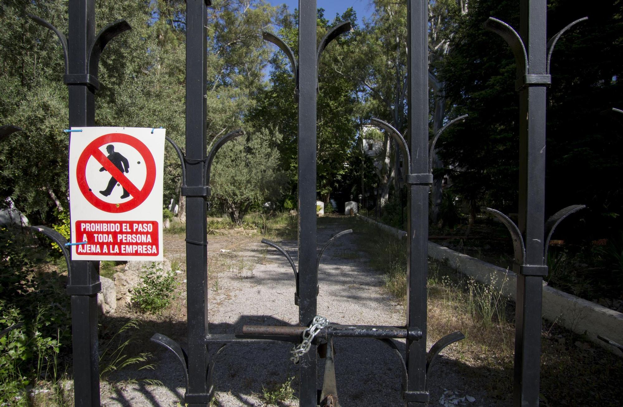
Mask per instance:
[[[278,35],[297,55],[298,14],[283,16]],[[329,21],[323,9],[318,9],[318,39],[335,24],[351,21],[356,28],[356,14],[353,9]],[[343,182],[345,163],[354,148],[358,124],[354,118],[356,106],[356,83],[341,75],[343,55],[350,52],[353,33],[341,35],[331,42],[320,61],[318,69],[318,137],[317,137],[317,190],[325,204],[331,193]],[[270,60],[270,83],[257,97],[257,106],[252,113],[256,125],[267,123],[276,126],[283,134],[279,145],[280,168],[288,174],[292,189],[297,182],[297,105],[295,102],[295,80],[290,62],[283,52],[275,52]]]

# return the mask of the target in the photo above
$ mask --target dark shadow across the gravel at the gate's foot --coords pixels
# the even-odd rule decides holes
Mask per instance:
[[[242,325],[287,325],[283,320],[272,316],[242,316],[234,324],[210,324],[213,334],[236,333]],[[186,323],[166,322],[144,327],[145,335],[154,332],[168,335],[185,347]],[[140,393],[143,401],[137,403],[136,395],[128,396],[128,390],[113,388],[112,403],[117,406],[174,406],[183,403],[184,379],[179,361],[170,352],[148,340],[141,342],[141,352],[155,355],[155,370],[138,372],[118,372],[114,380],[135,379],[131,385],[133,393]],[[397,342],[404,357],[404,342]],[[335,339],[336,379],[340,405],[349,406],[402,406],[401,399],[402,368],[396,353],[387,345],[373,339]],[[220,345],[210,347],[211,356]],[[292,344],[275,342],[272,344],[231,344],[222,350],[216,360],[214,387],[217,394],[215,405],[221,407],[259,406],[258,400],[263,388],[274,388],[293,377],[292,388],[298,393],[298,366],[290,361]],[[325,363],[318,359],[318,389],[322,387]],[[473,383],[492,372],[472,368],[465,363],[450,360],[443,355],[437,359],[430,376],[431,405],[439,405],[438,400],[445,390],[457,395],[470,395],[477,399],[475,405],[505,405],[508,401],[497,401],[484,396],[485,390],[473,388]],[[478,380],[480,378],[480,380]],[[145,380],[159,380],[161,386],[146,384]],[[166,395],[164,395],[166,393]],[[222,394],[225,393],[225,394]],[[484,400],[483,400],[484,398]],[[145,404],[148,403],[148,404]],[[280,403],[278,406],[298,405],[296,401]],[[460,404],[459,404],[460,405]]]

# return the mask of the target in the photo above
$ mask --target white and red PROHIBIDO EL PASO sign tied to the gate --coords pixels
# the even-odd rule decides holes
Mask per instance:
[[[162,260],[164,129],[72,130],[72,258]]]

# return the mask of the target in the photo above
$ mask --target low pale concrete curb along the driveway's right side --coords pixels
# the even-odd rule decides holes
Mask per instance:
[[[407,235],[403,230],[392,228],[362,215],[359,215],[359,218],[377,225],[398,238]],[[472,276],[480,283],[489,284],[502,290],[505,296],[515,301],[517,276],[512,271],[463,255],[447,247],[432,243],[432,241],[429,241],[429,257],[439,261],[447,261],[450,267],[467,276]],[[621,312],[549,286],[543,286],[542,312],[543,318],[563,325],[576,334],[586,335],[602,348],[623,356],[619,349],[597,339],[597,335],[601,335],[623,344],[623,314]]]

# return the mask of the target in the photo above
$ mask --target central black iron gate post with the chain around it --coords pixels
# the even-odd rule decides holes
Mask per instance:
[[[316,316],[318,273],[316,270],[316,0],[298,1],[298,273],[299,325]],[[315,407],[316,346],[300,362],[299,400],[302,407]]]

